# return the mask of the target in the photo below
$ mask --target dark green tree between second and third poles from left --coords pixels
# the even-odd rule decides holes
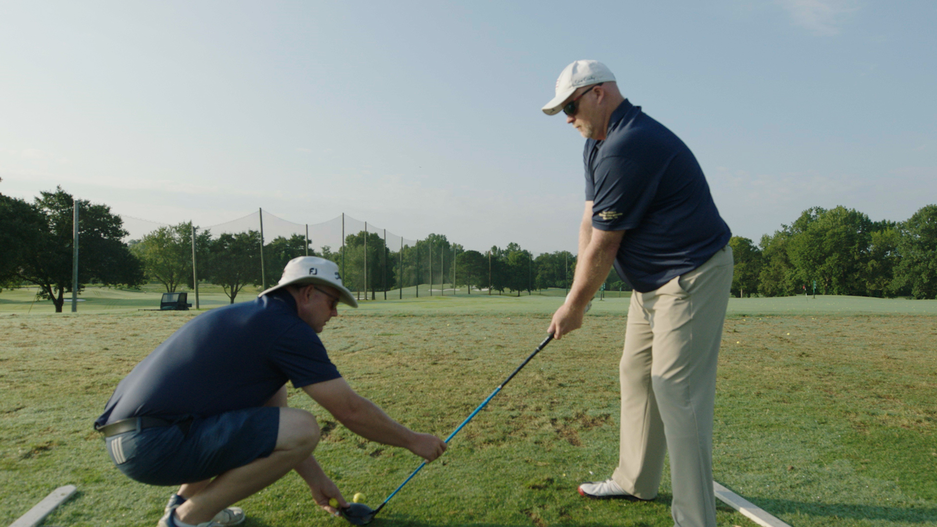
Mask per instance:
[[[247,285],[260,285],[260,233],[224,233],[209,244],[205,279],[220,285],[234,303]]]

